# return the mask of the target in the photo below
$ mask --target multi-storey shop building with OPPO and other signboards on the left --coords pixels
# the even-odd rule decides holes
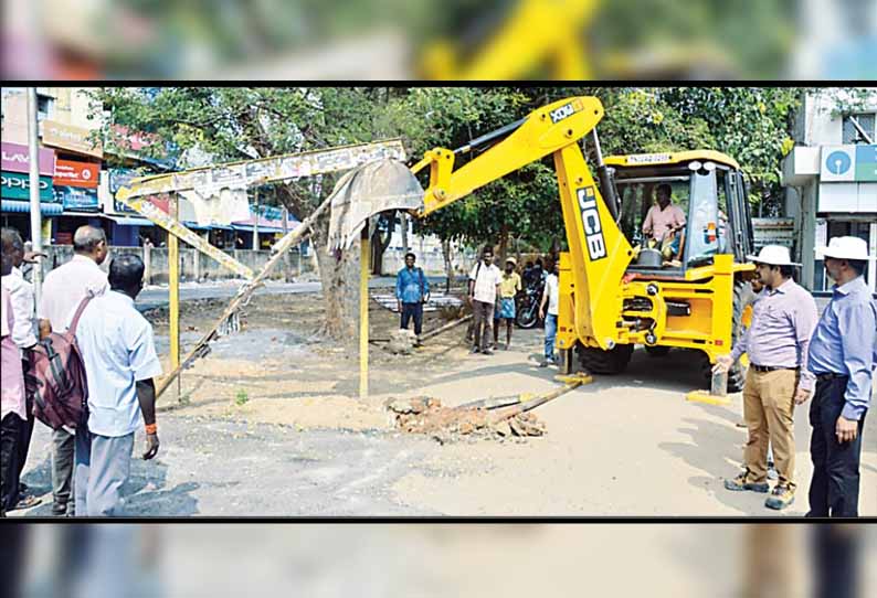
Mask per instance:
[[[2,202],[3,226],[31,238],[30,157],[28,152],[28,89],[2,90]],[[146,156],[146,148],[167,145],[155,135],[113,126],[106,137],[97,136],[103,111],[91,109],[85,87],[38,87],[38,135],[40,195],[44,245],[71,245],[73,233],[84,224],[102,227],[116,247],[137,247],[147,239],[161,247],[167,233],[115,200],[116,192],[131,179],[178,169],[170,151],[162,158]],[[98,107],[99,108],[99,107]],[[92,118],[89,118],[92,116]],[[157,153],[157,152],[150,152]],[[184,167],[179,167],[184,168]],[[253,205],[250,216],[229,225],[199,225],[194,207],[179,197],[179,220],[212,245],[228,250],[267,249],[297,220],[277,207]],[[169,197],[150,201],[168,211]],[[255,231],[254,231],[255,228]],[[300,248],[307,253],[307,244]]]

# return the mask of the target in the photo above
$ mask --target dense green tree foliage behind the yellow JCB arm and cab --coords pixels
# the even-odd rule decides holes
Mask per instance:
[[[461,147],[539,106],[575,95],[596,96],[604,105],[598,127],[604,156],[716,149],[740,162],[753,203],[781,195],[779,164],[791,147],[789,130],[802,95],[796,88],[410,88],[391,102],[384,118],[420,156],[435,146]],[[584,146],[593,168],[593,145]],[[553,239],[566,236],[551,158],[433,213],[423,231],[442,242],[497,244],[500,253],[510,237],[549,249]]]

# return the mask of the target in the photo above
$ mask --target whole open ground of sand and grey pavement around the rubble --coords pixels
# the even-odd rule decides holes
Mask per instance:
[[[184,305],[183,352],[224,305]],[[412,355],[372,344],[370,397],[360,401],[356,348],[320,340],[320,317],[318,295],[253,299],[243,331],[214,342],[183,373],[181,401],[171,392],[159,401],[162,452],[134,466],[133,514],[778,514],[763,506],[763,494],[722,488],[746,441],[737,426],[741,398],[728,407],[687,403],[701,383],[684,351],[653,359],[640,349],[623,375],[539,407],[545,437],[438,444],[395,430],[384,403],[427,395],[455,406],[554,389],[557,371],[537,366],[542,331],[516,329],[511,349],[492,356],[468,354],[465,324]],[[166,316],[149,318],[168,371]],[[372,339],[388,338],[398,314],[372,302],[370,322]],[[427,313],[424,330],[444,322]],[[806,415],[795,416],[799,492],[783,515],[807,509]],[[47,441],[47,431],[35,435],[42,448],[25,468],[25,482],[44,491]],[[864,435],[859,510],[877,514],[875,418]]]

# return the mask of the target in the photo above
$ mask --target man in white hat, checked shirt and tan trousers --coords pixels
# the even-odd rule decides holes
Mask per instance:
[[[752,324],[730,355],[717,359],[715,371],[728,371],[740,355],[749,355],[743,385],[743,418],[749,439],[743,449],[743,471],[725,481],[728,490],[768,492],[768,447],[772,447],[779,480],[764,501],[785,509],[795,496],[794,406],[804,403],[815,378],[806,370],[807,344],[816,325],[816,302],[793,279],[789,249],[767,245],[756,263],[764,286],[752,306]]]

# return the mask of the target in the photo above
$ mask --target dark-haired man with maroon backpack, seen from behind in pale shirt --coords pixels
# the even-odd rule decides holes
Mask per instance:
[[[88,381],[88,421],[76,430],[76,516],[123,515],[134,434],[146,424],[148,460],[158,453],[156,387],[161,374],[152,325],[134,307],[144,263],[123,255],[109,265],[109,291],[92,299],[76,327]],[[72,318],[71,318],[72,319]]]

